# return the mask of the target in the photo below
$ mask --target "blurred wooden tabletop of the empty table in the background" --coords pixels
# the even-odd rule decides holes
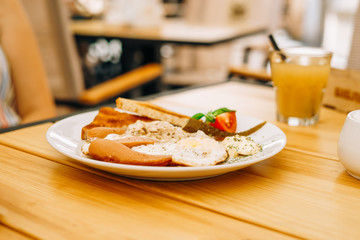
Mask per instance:
[[[71,29],[76,36],[114,37],[131,41],[213,45],[247,35],[264,32],[266,26],[244,23],[239,26],[202,26],[183,20],[165,20],[158,27],[129,27],[104,20],[73,20]]]

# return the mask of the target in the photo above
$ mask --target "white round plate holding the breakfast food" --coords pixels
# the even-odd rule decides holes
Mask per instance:
[[[98,111],[81,113],[56,122],[47,131],[47,141],[60,153],[82,164],[137,179],[182,181],[213,177],[236,171],[270,158],[280,152],[286,144],[284,132],[275,125],[266,123],[260,130],[250,135],[254,141],[262,145],[263,151],[243,158],[236,163],[208,167],[156,167],[108,163],[91,159],[81,152],[81,146],[84,143],[81,140],[81,129],[89,124],[97,113]],[[238,131],[247,130],[263,122],[261,119],[240,115],[237,115],[237,119]]]

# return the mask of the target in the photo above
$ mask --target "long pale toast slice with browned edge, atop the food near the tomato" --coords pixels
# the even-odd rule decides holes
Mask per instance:
[[[189,116],[170,111],[149,102],[126,98],[117,98],[116,107],[151,119],[167,121],[179,127],[184,127],[190,119]]]

